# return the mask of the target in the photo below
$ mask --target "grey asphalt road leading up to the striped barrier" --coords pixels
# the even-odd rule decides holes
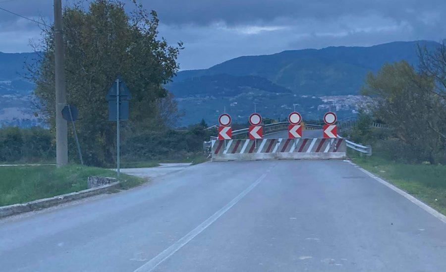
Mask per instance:
[[[0,220],[1,271],[446,271],[446,224],[344,161],[214,162]]]

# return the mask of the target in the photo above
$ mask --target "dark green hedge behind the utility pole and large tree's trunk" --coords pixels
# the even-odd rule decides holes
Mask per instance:
[[[123,161],[148,161],[157,159],[184,159],[202,152],[203,141],[215,131],[205,130],[200,124],[191,125],[184,130],[169,128],[152,128],[135,133],[123,129],[121,133],[121,156]],[[111,166],[94,160],[94,147],[79,139],[85,162],[92,165]],[[68,150],[70,162],[78,162],[78,153],[74,137],[69,134]],[[115,161],[116,153],[109,155]],[[49,129],[42,127],[0,128],[0,162],[42,162],[54,161],[56,158],[55,138]]]

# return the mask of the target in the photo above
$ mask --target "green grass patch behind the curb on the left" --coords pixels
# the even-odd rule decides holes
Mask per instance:
[[[0,206],[25,203],[36,199],[87,189],[89,176],[116,177],[116,172],[76,164],[56,166],[0,166]],[[121,188],[128,189],[146,180],[122,174]]]

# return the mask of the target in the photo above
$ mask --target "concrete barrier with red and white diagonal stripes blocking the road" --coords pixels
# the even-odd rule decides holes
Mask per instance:
[[[345,139],[212,140],[212,161],[345,159]]]

